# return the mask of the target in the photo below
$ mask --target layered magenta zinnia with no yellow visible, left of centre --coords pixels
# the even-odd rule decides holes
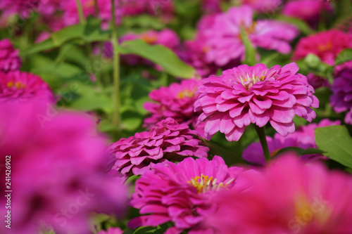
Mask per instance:
[[[172,118],[158,122],[151,131],[121,138],[108,149],[113,155],[111,169],[126,176],[144,174],[165,160],[180,162],[188,156],[207,157],[208,150],[196,131]]]

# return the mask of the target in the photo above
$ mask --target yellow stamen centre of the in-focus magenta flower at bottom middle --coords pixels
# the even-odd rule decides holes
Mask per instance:
[[[234,179],[230,180],[227,183],[217,183],[217,179],[213,178],[213,176],[204,176],[201,174],[201,176],[196,176],[192,177],[191,181],[187,181],[187,183],[190,183],[191,186],[194,186],[198,193],[206,193],[210,190],[220,190],[222,188],[226,188]]]

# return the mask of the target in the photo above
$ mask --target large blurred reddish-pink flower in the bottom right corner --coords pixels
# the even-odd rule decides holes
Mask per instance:
[[[275,160],[244,193],[226,190],[206,220],[219,233],[352,233],[352,178],[322,164],[303,164],[295,156]]]

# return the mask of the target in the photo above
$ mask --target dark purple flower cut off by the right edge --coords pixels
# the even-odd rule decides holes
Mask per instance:
[[[352,62],[344,63],[337,67],[332,84],[330,104],[335,112],[347,111],[344,122],[352,124]]]

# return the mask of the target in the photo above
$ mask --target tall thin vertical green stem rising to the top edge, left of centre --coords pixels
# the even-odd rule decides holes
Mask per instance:
[[[111,31],[113,38],[113,124],[120,129],[120,54],[118,48],[118,30],[115,18],[115,0],[111,0]]]

